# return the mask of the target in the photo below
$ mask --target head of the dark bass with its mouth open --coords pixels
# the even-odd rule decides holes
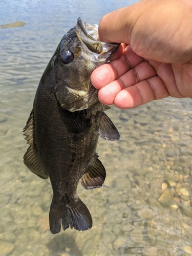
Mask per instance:
[[[106,63],[119,44],[98,40],[98,25],[80,17],[60,41],[50,65],[54,70],[54,94],[62,109],[71,112],[89,108],[98,100],[91,73]]]

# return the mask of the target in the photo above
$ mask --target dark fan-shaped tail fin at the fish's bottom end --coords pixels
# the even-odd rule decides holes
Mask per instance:
[[[80,199],[70,205],[57,205],[52,201],[49,225],[53,234],[60,232],[61,225],[63,230],[70,226],[83,231],[92,228],[92,218],[87,206]]]

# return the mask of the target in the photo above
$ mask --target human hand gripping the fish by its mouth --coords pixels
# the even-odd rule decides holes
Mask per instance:
[[[105,15],[99,39],[126,44],[92,73],[99,100],[129,109],[168,96],[192,98],[191,24],[188,0],[144,0]]]

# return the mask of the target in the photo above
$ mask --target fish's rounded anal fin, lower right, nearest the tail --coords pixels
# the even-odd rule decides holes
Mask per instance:
[[[86,189],[101,187],[106,177],[105,168],[98,155],[95,154],[94,161],[81,177],[81,185]]]

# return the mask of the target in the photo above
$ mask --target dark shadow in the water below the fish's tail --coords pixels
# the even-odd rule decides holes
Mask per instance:
[[[62,233],[56,234],[53,239],[50,239],[47,247],[50,250],[52,256],[58,255],[70,255],[70,256],[82,256],[81,251],[76,245],[75,239],[69,234]]]

